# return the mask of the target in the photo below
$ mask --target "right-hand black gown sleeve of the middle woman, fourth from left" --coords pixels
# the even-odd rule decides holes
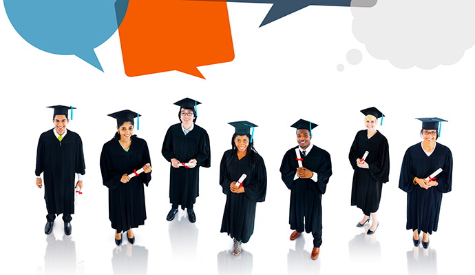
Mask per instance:
[[[254,170],[253,179],[244,188],[244,194],[250,201],[263,202],[266,199],[267,172],[262,157],[256,157]]]

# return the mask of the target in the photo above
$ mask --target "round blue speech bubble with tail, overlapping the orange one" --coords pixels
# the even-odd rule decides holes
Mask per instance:
[[[94,48],[116,32],[128,3],[129,0],[4,0],[13,28],[28,43],[52,54],[74,54],[101,71]]]

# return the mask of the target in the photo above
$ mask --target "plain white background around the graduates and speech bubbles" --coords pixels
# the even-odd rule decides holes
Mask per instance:
[[[0,12],[0,90],[2,129],[2,274],[112,274],[112,258],[122,256],[115,274],[145,269],[149,274],[434,274],[467,273],[474,245],[470,234],[474,187],[474,129],[470,121],[474,90],[473,48],[454,65],[433,70],[401,70],[374,59],[352,34],[349,8],[312,6],[257,28],[271,6],[229,3],[235,59],[199,68],[207,80],[181,72],[129,78],[123,71],[118,33],[96,48],[105,72],[74,56],[42,52],[25,42]],[[363,53],[359,65],[346,52]],[[345,70],[337,71],[343,64]],[[169,125],[178,123],[173,102],[201,101],[197,124],[211,138],[211,167],[200,170],[197,221],[180,210],[171,223],[169,164],[160,150]],[[54,236],[43,232],[43,190],[34,185],[36,145],[53,127],[47,105],[74,105],[67,128],[83,139],[86,176],[81,205],[64,236],[56,219]],[[390,144],[390,181],[383,187],[379,228],[373,236],[355,227],[361,210],[350,206],[352,168],[348,151],[364,128],[359,110],[376,106],[386,117],[379,127]],[[154,172],[146,188],[147,221],[134,230],[136,244],[116,248],[107,218],[107,187],[99,156],[116,128],[107,114],[130,109],[142,114],[135,133],[149,144]],[[414,249],[405,230],[405,193],[397,187],[405,150],[421,141],[415,117],[439,116],[439,141],[452,150],[452,192],[444,194],[439,230],[430,249]],[[323,244],[310,260],[312,237],[289,241],[290,191],[280,179],[284,152],[296,145],[298,119],[319,124],[313,143],[332,157],[333,176],[323,198]],[[268,172],[266,201],[258,203],[255,230],[242,255],[231,255],[232,241],[220,233],[225,196],[218,183],[222,153],[231,147],[229,121],[249,120],[255,147]],[[125,235],[123,236],[125,239]],[[126,239],[125,239],[126,240]],[[48,244],[49,243],[49,244]],[[47,249],[47,245],[50,245]],[[419,256],[415,256],[415,255]],[[418,260],[414,260],[416,257]],[[72,259],[72,261],[68,261]],[[116,261],[116,260],[114,260]],[[63,264],[60,264],[63,263]],[[71,272],[72,271],[72,272]]]

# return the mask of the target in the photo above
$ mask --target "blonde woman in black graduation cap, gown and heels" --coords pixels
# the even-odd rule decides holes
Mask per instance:
[[[351,205],[363,210],[363,219],[357,223],[357,227],[362,227],[372,218],[372,225],[366,232],[370,235],[376,232],[379,225],[376,212],[381,201],[383,183],[389,181],[389,145],[386,137],[376,130],[379,117],[382,124],[383,113],[374,107],[361,112],[365,115],[366,130],[357,133],[348,154],[351,166],[355,170]],[[365,152],[368,152],[368,156],[361,159]]]

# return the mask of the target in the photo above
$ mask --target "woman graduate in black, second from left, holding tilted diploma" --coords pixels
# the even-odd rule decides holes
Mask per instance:
[[[116,230],[116,244],[122,243],[125,231],[133,244],[135,236],[131,229],[143,225],[147,218],[143,185],[148,186],[151,180],[149,147],[145,140],[133,135],[134,117],[138,126],[139,114],[123,110],[109,116],[117,119],[117,132],[101,152],[103,184],[109,188],[109,220]],[[140,168],[143,172],[139,174]]]

